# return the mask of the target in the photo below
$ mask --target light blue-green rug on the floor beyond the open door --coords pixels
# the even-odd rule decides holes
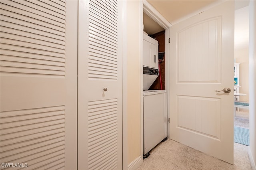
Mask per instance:
[[[234,142],[249,146],[249,129],[234,127]]]

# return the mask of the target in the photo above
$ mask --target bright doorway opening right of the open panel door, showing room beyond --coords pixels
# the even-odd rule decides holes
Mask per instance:
[[[249,106],[240,106],[249,104],[249,7],[235,9],[234,18],[234,162],[249,164]]]

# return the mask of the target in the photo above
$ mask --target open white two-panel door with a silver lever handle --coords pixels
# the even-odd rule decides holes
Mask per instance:
[[[233,164],[234,2],[172,26],[170,40],[170,138]]]

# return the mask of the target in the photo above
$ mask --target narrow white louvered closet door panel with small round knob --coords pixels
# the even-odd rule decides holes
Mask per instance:
[[[79,2],[78,169],[122,169],[121,3]]]

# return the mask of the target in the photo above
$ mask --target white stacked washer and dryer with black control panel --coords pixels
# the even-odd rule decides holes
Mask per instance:
[[[148,90],[158,77],[158,42],[143,34],[143,127],[144,157],[167,137],[165,90]]]

